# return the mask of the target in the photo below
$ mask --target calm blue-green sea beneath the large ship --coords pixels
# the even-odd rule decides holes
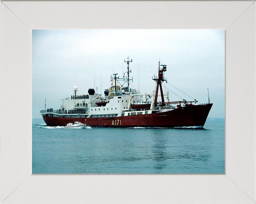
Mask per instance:
[[[224,174],[224,119],[204,128],[48,127],[32,120],[33,174]]]

